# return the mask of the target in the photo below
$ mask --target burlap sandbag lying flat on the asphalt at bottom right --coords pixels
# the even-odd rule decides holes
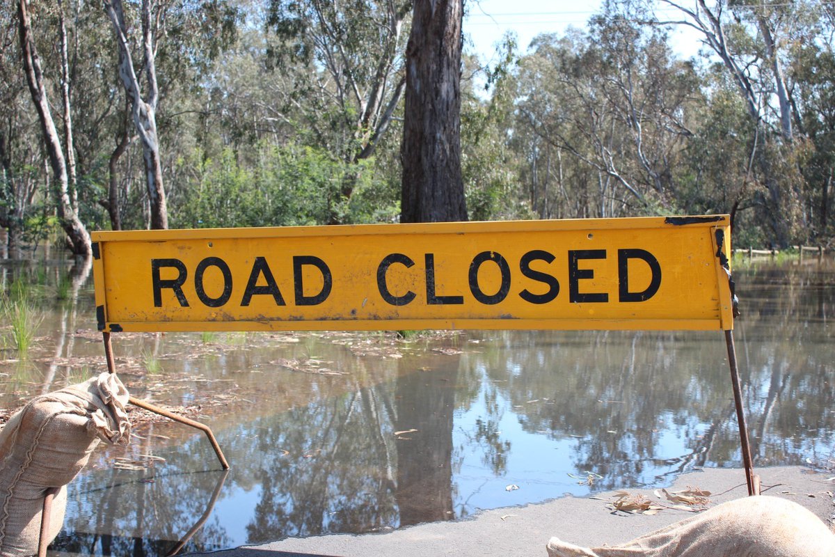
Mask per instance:
[[[797,503],[746,497],[717,505],[628,544],[584,548],[559,538],[549,557],[835,557],[835,535]]]

